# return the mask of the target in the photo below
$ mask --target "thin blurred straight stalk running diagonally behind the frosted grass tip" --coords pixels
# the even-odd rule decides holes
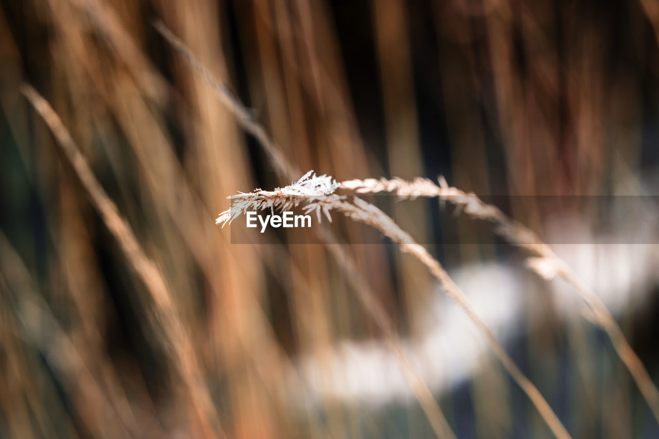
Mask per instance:
[[[163,22],[159,20],[154,22],[154,27],[163,38],[169,42],[169,44],[173,45],[173,47],[181,53],[188,65],[202,76],[208,86],[210,86],[215,92],[215,95],[219,98],[220,102],[223,103],[223,105],[225,105],[225,107],[227,107],[227,109],[229,109],[229,111],[235,116],[239,125],[258,140],[258,143],[272,161],[272,165],[277,172],[277,175],[279,175],[281,179],[289,181],[295,179],[297,175],[300,175],[300,172],[297,171],[297,169],[295,169],[285,157],[281,148],[279,148],[274,140],[268,136],[264,127],[254,119],[250,111],[248,111],[243,103],[240,102],[231,91],[229,91],[227,86],[217,80],[215,76],[210,73],[210,71],[208,71],[198,59],[196,59],[185,43],[175,36],[175,34],[173,34]],[[308,174],[306,176],[308,176]],[[301,183],[303,179],[304,177],[302,177],[298,183]],[[331,191],[333,192],[333,189]],[[273,206],[270,205],[270,207]],[[320,209],[318,210],[318,214],[320,215]],[[327,212],[326,215],[328,215]],[[224,220],[219,220],[218,218],[217,222],[219,223],[225,220],[230,220],[230,218]],[[386,337],[387,347],[391,349],[394,358],[398,361],[405,379],[415,393],[415,396],[426,414],[426,417],[428,417],[428,421],[430,421],[430,425],[435,434],[438,437],[455,437],[444,413],[442,413],[442,409],[440,409],[437,401],[432,396],[432,392],[430,392],[426,383],[407,359],[407,355],[405,355],[405,352],[401,347],[401,341],[395,332],[391,319],[387,316],[384,307],[382,307],[382,304],[378,301],[376,295],[373,293],[372,289],[370,289],[363,276],[355,270],[356,264],[353,257],[343,249],[343,247],[334,245],[337,242],[328,229],[321,227],[319,237],[326,244],[329,254],[335,262],[337,262],[341,270],[347,275],[346,278],[351,284],[353,291],[355,291],[360,304],[364,310],[366,310],[366,313],[374,320],[374,322],[376,322],[378,329],[382,331]]]

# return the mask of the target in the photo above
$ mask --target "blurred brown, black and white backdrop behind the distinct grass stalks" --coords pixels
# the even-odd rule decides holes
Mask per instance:
[[[226,197],[291,178],[154,20],[301,175],[443,175],[502,196],[549,242],[579,241],[556,251],[659,382],[653,0],[0,0],[0,438],[434,437],[355,272],[458,437],[551,436],[426,268],[375,231],[336,219],[353,274],[311,235],[232,244],[214,223]],[[157,267],[169,326],[23,82]],[[564,202],[544,212],[535,195]],[[600,195],[631,196],[645,216]],[[659,437],[569,287],[437,200],[382,198],[574,437]]]

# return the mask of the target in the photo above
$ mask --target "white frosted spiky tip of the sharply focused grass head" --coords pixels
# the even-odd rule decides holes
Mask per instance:
[[[320,221],[320,212],[322,211],[331,222],[329,210],[331,203],[342,200],[344,197],[334,195],[334,191],[339,187],[329,175],[316,175],[314,171],[302,175],[295,183],[278,187],[275,190],[254,190],[254,192],[239,193],[231,195],[231,207],[217,217],[215,224],[231,223],[241,214],[250,210],[289,210],[299,204],[304,203],[304,213],[316,212],[318,221]]]

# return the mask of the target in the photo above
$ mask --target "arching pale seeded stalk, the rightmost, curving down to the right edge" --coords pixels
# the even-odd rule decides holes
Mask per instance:
[[[647,401],[655,419],[659,421],[659,391],[650,378],[639,356],[631,349],[620,326],[606,308],[602,299],[588,287],[573,270],[559,258],[554,250],[543,243],[534,231],[518,221],[508,218],[499,208],[483,202],[473,193],[463,192],[449,187],[445,179],[436,185],[428,179],[405,181],[402,179],[366,179],[349,180],[341,183],[342,189],[355,190],[358,193],[395,192],[403,198],[418,196],[438,197],[461,208],[465,214],[478,220],[488,221],[494,225],[494,231],[503,239],[520,249],[527,250],[532,257],[527,266],[544,279],[559,276],[574,287],[577,294],[585,301],[594,314],[594,321],[611,339],[617,355],[633,376],[641,394]]]

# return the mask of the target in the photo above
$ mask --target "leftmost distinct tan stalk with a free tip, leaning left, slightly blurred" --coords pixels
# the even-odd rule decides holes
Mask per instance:
[[[119,247],[129,261],[130,266],[144,282],[148,291],[148,296],[144,299],[150,304],[148,308],[153,311],[154,325],[158,330],[159,341],[167,351],[171,352],[170,357],[185,384],[194,407],[196,420],[202,428],[203,434],[206,437],[225,436],[210,394],[208,394],[208,390],[203,384],[194,349],[192,349],[188,334],[186,334],[185,328],[181,324],[171,294],[158,268],[146,256],[127,221],[121,217],[117,206],[98,183],[92,169],[90,169],[86,159],[78,150],[71,134],[69,134],[57,113],[32,86],[24,84],[21,91],[53,132],[57,144],[69,163],[71,163],[76,177],[78,177],[82,187],[90,197],[94,208],[96,208],[105,226],[119,243]]]

